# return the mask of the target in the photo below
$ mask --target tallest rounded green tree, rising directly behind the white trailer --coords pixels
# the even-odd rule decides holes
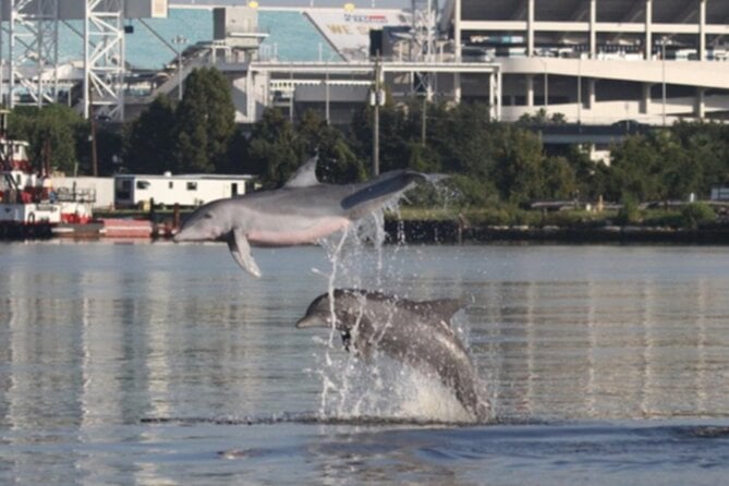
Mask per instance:
[[[179,172],[214,172],[229,166],[235,107],[220,71],[201,68],[187,76],[175,118]]]

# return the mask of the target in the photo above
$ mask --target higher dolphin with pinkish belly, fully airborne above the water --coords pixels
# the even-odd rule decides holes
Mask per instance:
[[[307,160],[283,187],[207,203],[185,220],[175,242],[224,239],[233,259],[260,277],[251,246],[316,243],[400,197],[415,183],[446,178],[411,170],[386,172],[359,184],[324,184],[317,157]]]

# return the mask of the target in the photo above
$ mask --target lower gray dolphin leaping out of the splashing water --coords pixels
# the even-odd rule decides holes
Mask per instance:
[[[379,350],[435,374],[477,421],[488,418],[483,382],[450,324],[453,314],[463,307],[460,301],[415,302],[356,289],[336,289],[333,299],[335,327],[348,351],[353,348],[368,359],[373,350]],[[297,328],[330,326],[328,293],[316,297],[296,323]]]

